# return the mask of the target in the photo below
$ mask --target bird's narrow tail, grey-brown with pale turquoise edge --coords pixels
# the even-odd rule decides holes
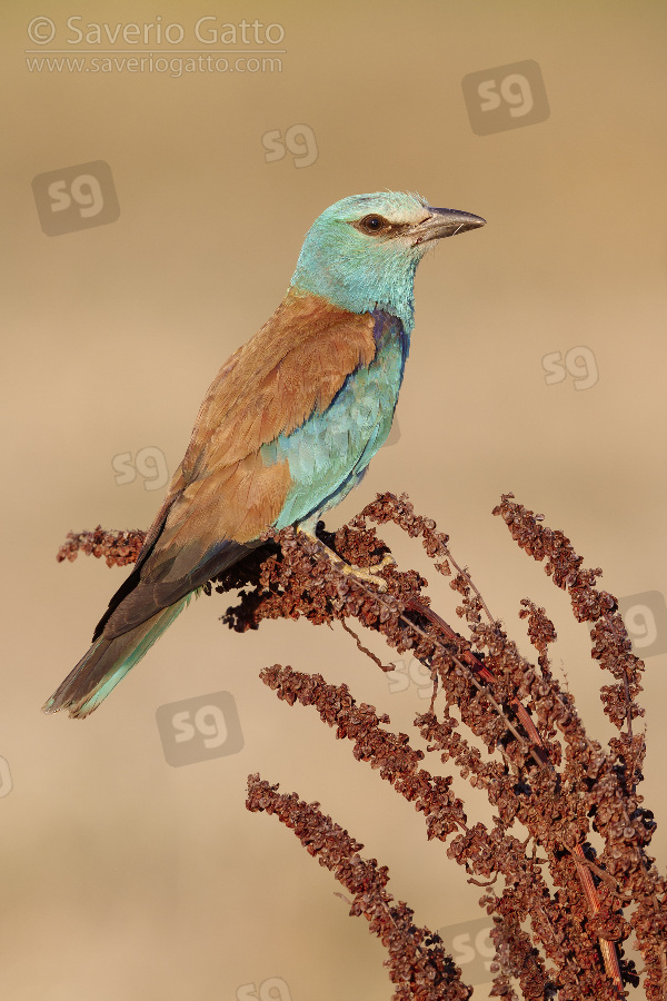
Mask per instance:
[[[44,713],[67,708],[72,718],[88,716],[160,638],[193,593],[120,636],[109,640],[102,634],[42,706]]]

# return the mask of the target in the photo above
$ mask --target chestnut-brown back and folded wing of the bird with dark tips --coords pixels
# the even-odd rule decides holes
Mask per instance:
[[[138,565],[96,635],[135,628],[257,544],[292,485],[288,462],[265,465],[261,446],[323,413],[375,355],[370,315],[288,293],[210,386]]]

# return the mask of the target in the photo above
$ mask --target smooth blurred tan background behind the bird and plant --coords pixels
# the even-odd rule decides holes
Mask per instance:
[[[72,46],[72,16],[111,30],[159,16],[183,26],[185,38]],[[28,37],[38,17],[56,26],[48,43]],[[210,44],[193,38],[201,17],[213,18],[207,28],[281,26],[279,44],[261,43],[285,50],[280,70],[27,66],[26,49],[40,58],[63,48],[106,48],[118,59],[137,48],[206,53]],[[491,508],[514,490],[588,565],[604,567],[614,594],[653,594],[645,795],[664,871],[664,7],[165,0],[82,12],[6,2],[2,22],[0,792],[13,783],[0,801],[2,997],[389,998],[384,949],[364,920],[347,916],[334,895],[341,888],[275,817],[245,810],[250,772],[320,801],[364,854],[389,865],[389,889],[419,924],[456,930],[480,916],[480,891],[442,845],[426,842],[421,817],[312,711],[289,708],[258,680],[275,662],[320,671],[410,732],[427,704],[419,687],[391,686],[340,627],[266,623],[239,636],[218,622],[227,596],[201,598],[91,718],[40,713],[125,574],[82,556],[58,565],[67,531],[150,524],[163,495],[151,489],[160,463],[176,468],[219,366],[275,309],[315,217],[350,194],[417,190],[488,225],[422,264],[398,440],[327,524],[342,524],[377,490],[408,490],[451,534],[455,555],[524,650],[519,599],[547,605],[561,637],[556,664],[603,741],[610,729],[598,686],[608,678],[589,657],[586,628]],[[476,135],[461,80],[526,60],[541,70],[548,117],[529,112],[519,127]],[[501,115],[517,107],[516,91],[507,93]],[[290,150],[292,126],[306,128],[292,130]],[[100,160],[119,218],[47,236],[33,178]],[[585,351],[568,356],[568,371],[573,348]],[[148,473],[132,476],[142,449]],[[454,620],[456,599],[420,546],[381,534]],[[242,751],[170,766],[156,711],[218,692],[233,696]],[[460,787],[469,816],[487,817]]]

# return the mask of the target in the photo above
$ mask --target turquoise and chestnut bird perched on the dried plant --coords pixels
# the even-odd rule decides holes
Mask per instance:
[[[132,573],[44,712],[97,708],[266,528],[315,533],[389,434],[417,265],[437,240],[484,224],[397,191],[344,198],[316,219],[282,303],[208,390]]]

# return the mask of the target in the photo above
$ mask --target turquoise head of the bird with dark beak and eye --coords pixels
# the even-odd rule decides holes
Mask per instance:
[[[444,237],[484,224],[409,192],[352,195],[315,220],[291,284],[351,313],[384,309],[409,333],[415,271],[424,255]]]

